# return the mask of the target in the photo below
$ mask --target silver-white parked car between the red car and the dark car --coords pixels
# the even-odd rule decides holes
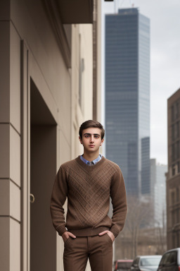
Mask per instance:
[[[131,271],[156,271],[162,255],[137,256],[132,265]]]

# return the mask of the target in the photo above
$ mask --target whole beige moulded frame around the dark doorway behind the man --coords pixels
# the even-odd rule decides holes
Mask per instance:
[[[20,43],[20,271],[30,271],[30,79],[34,81],[56,121],[56,168],[59,164],[58,104],[25,40]],[[59,251],[56,238],[56,255]],[[58,270],[57,257],[57,270]]]

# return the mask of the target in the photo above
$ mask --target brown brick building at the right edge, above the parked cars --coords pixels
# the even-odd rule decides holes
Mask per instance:
[[[167,249],[180,246],[180,89],[167,101]]]

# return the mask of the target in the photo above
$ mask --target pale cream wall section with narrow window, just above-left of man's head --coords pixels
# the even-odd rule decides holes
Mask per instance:
[[[80,35],[80,38],[79,38]],[[84,59],[82,108],[79,106],[79,54]],[[92,25],[72,25],[72,157],[82,154],[79,126],[92,118]]]

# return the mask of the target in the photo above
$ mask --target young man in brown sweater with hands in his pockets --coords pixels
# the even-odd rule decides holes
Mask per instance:
[[[113,241],[124,227],[127,198],[120,167],[99,155],[104,133],[98,121],[85,121],[79,128],[83,155],[62,164],[56,175],[50,209],[64,241],[65,271],[84,271],[88,258],[92,271],[112,271]]]

